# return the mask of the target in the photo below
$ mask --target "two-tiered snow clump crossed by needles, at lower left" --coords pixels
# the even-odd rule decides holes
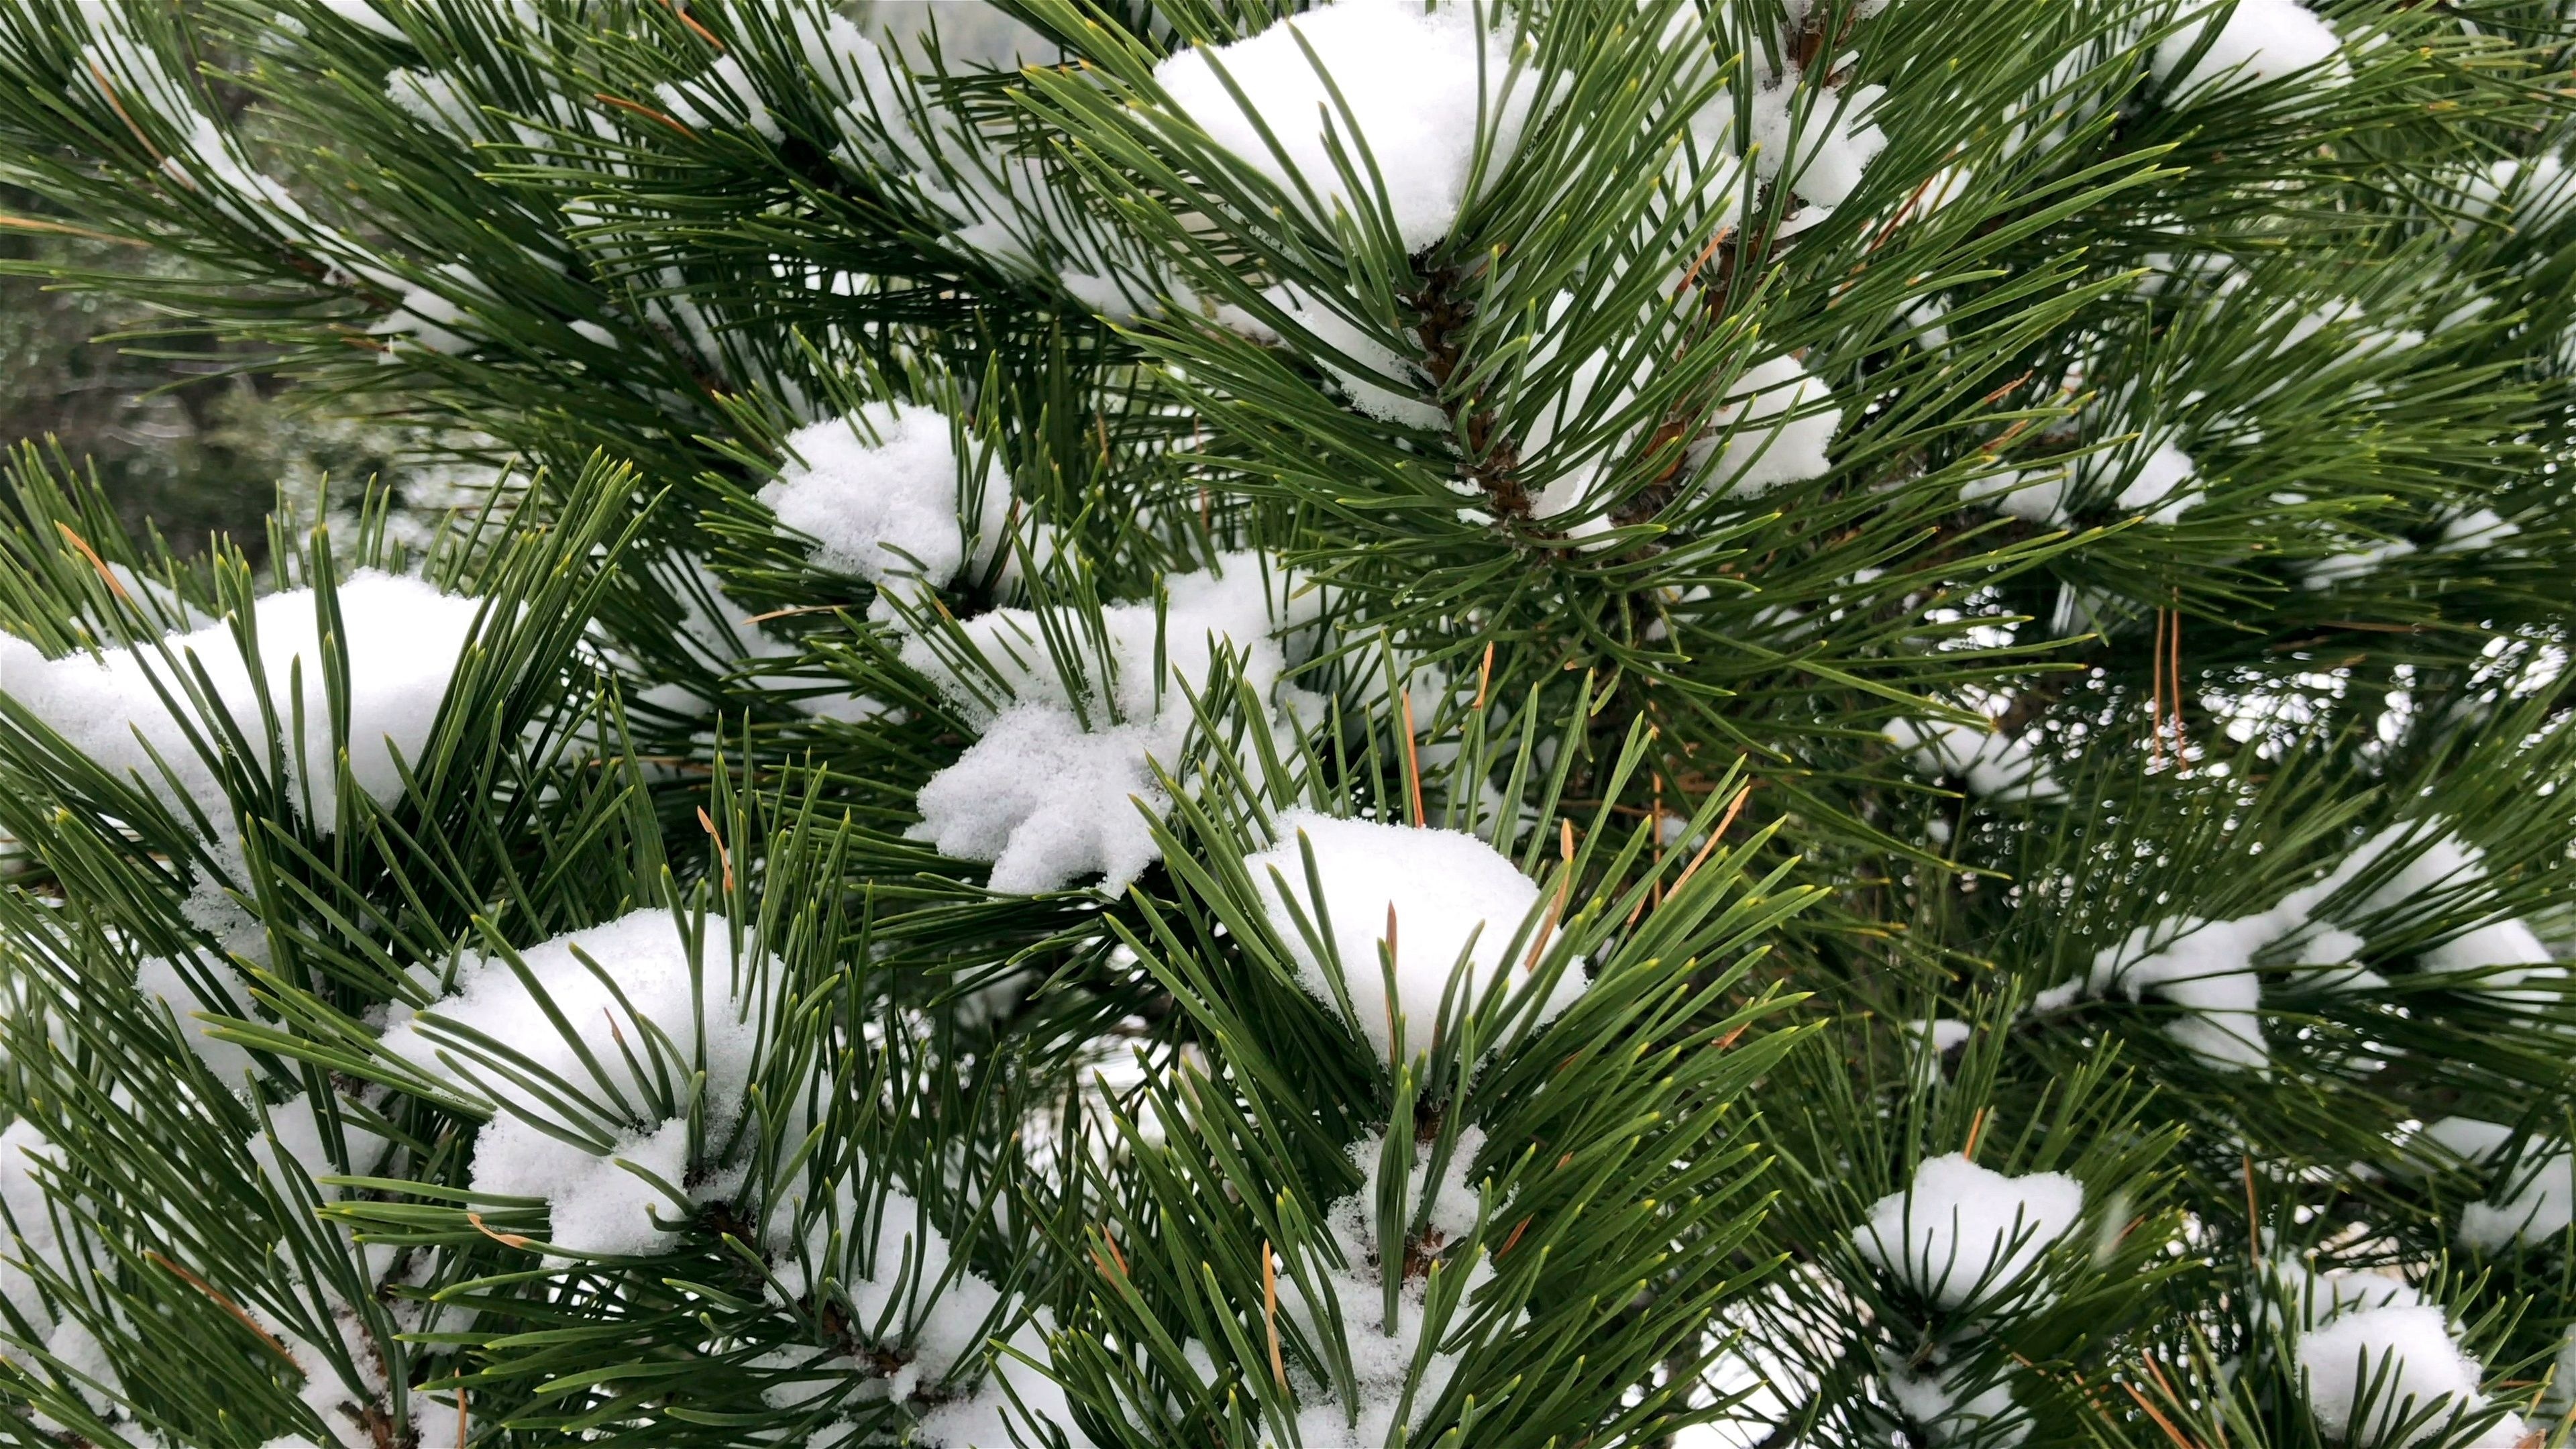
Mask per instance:
[[[672,1191],[690,1176],[690,1073],[706,1073],[701,1122],[716,1137],[742,1119],[762,1029],[757,1000],[732,990],[726,949],[708,944],[696,972],[690,954],[662,908],[528,946],[526,980],[505,957],[469,954],[453,990],[417,1013],[397,1006],[376,1047],[500,1106],[474,1142],[474,1191],[546,1199],[559,1248],[652,1253],[670,1245],[652,1214],[688,1209]],[[582,1147],[546,1127],[613,1140]]]

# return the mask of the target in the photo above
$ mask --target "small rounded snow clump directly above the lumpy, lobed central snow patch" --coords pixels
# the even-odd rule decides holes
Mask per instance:
[[[884,585],[935,588],[992,567],[1010,534],[1010,482],[987,454],[974,487],[956,423],[912,402],[868,402],[850,418],[788,433],[788,462],[760,490],[778,521],[814,539],[814,562]],[[961,516],[974,492],[974,539]]]

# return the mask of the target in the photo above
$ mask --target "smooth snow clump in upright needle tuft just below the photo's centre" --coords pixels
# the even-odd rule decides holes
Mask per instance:
[[[1306,882],[1301,835],[1314,848],[1316,879],[1324,887],[1321,900],[1311,895]],[[1280,815],[1278,841],[1278,846],[1244,859],[1270,928],[1288,946],[1298,985],[1327,1006],[1334,1003],[1334,980],[1327,969],[1334,969],[1350,995],[1350,1024],[1368,1039],[1378,1060],[1394,1055],[1399,1021],[1404,1024],[1406,1055],[1430,1049],[1453,982],[1458,1000],[1450,1006],[1450,1018],[1458,1021],[1499,982],[1525,980],[1522,964],[1535,936],[1522,938],[1520,951],[1512,944],[1522,923],[1530,923],[1533,933],[1538,931],[1533,920],[1538,882],[1520,874],[1484,841],[1461,830],[1334,820],[1309,810]],[[1270,874],[1273,869],[1278,879]],[[1298,928],[1298,913],[1329,946],[1324,957]],[[1396,959],[1391,1000],[1381,969],[1388,920],[1394,920],[1391,954]],[[1528,1000],[1525,990],[1502,990]],[[1577,962],[1538,1003],[1535,1018],[1556,1018],[1582,990],[1584,975]]]

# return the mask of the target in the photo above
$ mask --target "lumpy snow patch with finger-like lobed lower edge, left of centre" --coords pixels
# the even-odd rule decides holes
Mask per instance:
[[[1296,696],[1280,683],[1288,655],[1275,634],[1306,606],[1280,598],[1285,578],[1262,554],[1216,565],[1167,575],[1159,614],[1154,603],[1103,608],[1100,639],[1066,645],[1079,652],[1079,678],[1066,678],[1048,624],[1030,608],[994,608],[961,627],[981,665],[927,637],[904,639],[904,663],[979,730],[922,786],[909,835],[951,859],[992,861],[997,892],[1061,890],[1090,874],[1103,877],[1103,892],[1123,892],[1159,856],[1136,802],[1154,812],[1170,804],[1151,763],[1180,766],[1195,724],[1190,694],[1211,686],[1218,650],[1234,655],[1255,696]]]

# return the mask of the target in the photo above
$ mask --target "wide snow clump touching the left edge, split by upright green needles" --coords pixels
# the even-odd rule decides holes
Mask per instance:
[[[134,771],[147,786],[162,789],[160,755],[180,789],[209,820],[229,820],[232,810],[214,766],[188,730],[206,735],[196,709],[180,691],[188,655],[196,655],[214,683],[214,701],[232,722],[260,740],[260,691],[278,712],[278,732],[289,761],[289,784],[309,792],[312,822],[330,828],[340,797],[332,773],[330,694],[317,624],[314,590],[270,593],[252,606],[258,670],[245,660],[232,624],[206,624],[167,634],[157,647],[106,650],[106,657],[41,657],[23,639],[0,634],[0,691],[36,719],[46,722],[72,748],[116,773]],[[358,789],[379,804],[402,794],[394,758],[415,761],[430,740],[438,706],[448,694],[456,660],[474,637],[482,603],[438,593],[417,578],[361,570],[340,583],[340,639],[348,650],[348,766]],[[175,668],[162,660],[170,652]],[[183,714],[173,714],[152,681],[162,681]],[[301,691],[294,688],[301,683]],[[304,737],[294,737],[301,706]],[[211,735],[209,745],[211,745]],[[252,761],[265,763],[265,761]],[[299,797],[301,799],[301,797]]]

